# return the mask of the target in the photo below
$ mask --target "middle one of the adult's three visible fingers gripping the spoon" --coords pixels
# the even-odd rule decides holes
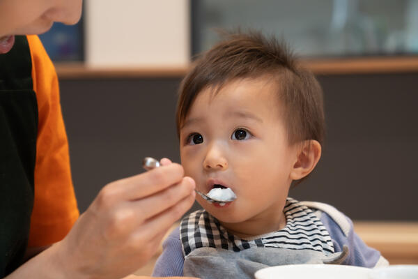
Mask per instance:
[[[180,183],[155,193],[155,195],[133,201],[131,204],[134,204],[134,212],[140,216],[141,220],[153,218],[162,211],[175,206],[185,197],[192,195],[195,185],[192,178],[184,177]]]

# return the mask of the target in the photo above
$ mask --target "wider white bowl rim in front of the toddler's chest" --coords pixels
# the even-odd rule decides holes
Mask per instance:
[[[334,264],[291,264],[260,269],[256,279],[369,279],[371,269]]]

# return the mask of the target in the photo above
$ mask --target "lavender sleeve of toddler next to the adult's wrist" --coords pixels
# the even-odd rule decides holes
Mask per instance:
[[[155,263],[153,277],[183,276],[185,260],[182,249],[180,230],[176,227],[162,243],[162,254]]]

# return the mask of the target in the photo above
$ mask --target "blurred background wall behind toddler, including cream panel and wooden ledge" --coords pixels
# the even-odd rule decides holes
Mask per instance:
[[[325,93],[327,139],[291,190],[353,220],[418,221],[418,0],[88,0],[40,36],[55,61],[80,211],[144,156],[179,162],[176,91],[218,29],[284,38]],[[194,209],[198,208],[196,204]]]

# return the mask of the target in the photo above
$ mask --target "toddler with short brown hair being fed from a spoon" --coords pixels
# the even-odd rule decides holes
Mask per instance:
[[[254,278],[281,264],[388,264],[334,207],[288,197],[315,168],[324,140],[323,93],[286,47],[235,33],[203,54],[180,86],[180,158],[196,189],[231,188],[163,244],[154,276]]]

